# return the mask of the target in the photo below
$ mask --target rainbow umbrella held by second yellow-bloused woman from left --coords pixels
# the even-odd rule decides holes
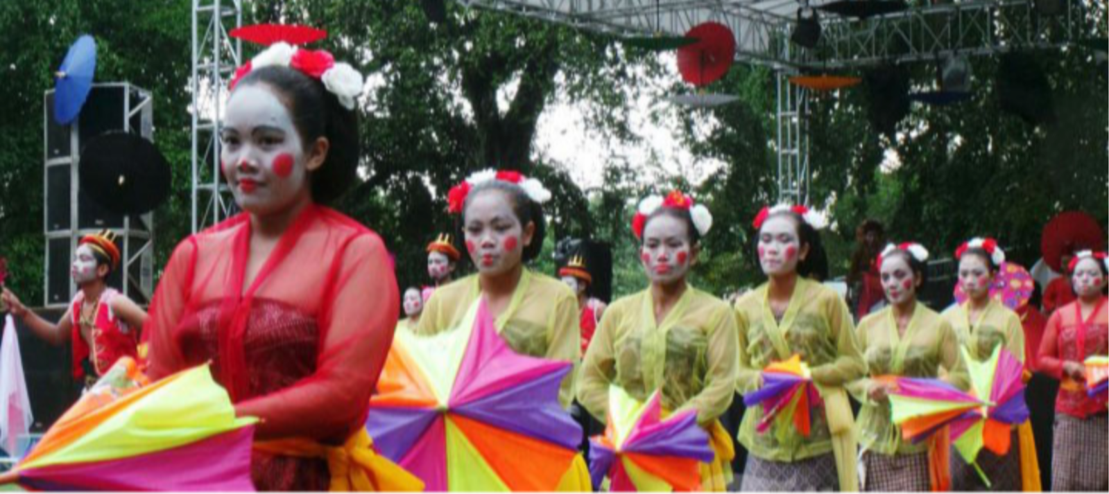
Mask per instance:
[[[609,387],[604,434],[589,442],[593,485],[608,476],[610,494],[694,492],[701,487],[699,463],[714,457],[696,411],[663,419],[658,391],[641,403],[617,385]]]

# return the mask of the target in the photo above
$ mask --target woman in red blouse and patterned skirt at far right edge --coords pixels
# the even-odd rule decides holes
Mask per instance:
[[[1109,263],[1105,253],[1082,250],[1068,267],[1078,300],[1051,315],[1039,351],[1039,369],[1062,381],[1055,402],[1051,492],[1105,493],[1109,492],[1109,395],[1087,394],[1083,361],[1109,354],[1109,310],[1101,292]]]

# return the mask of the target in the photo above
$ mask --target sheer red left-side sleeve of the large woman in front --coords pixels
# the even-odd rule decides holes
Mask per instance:
[[[161,379],[185,368],[174,329],[189,305],[196,265],[196,239],[189,237],[173,250],[157,282],[142,338],[147,343],[146,374]]]

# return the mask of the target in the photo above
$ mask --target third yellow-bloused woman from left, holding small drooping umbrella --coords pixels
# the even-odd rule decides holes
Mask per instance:
[[[808,278],[820,235],[804,206],[763,208],[755,218],[759,264],[769,280],[735,303],[740,335],[736,390],[759,389],[761,372],[793,354],[812,369],[823,404],[808,436],[788,423],[759,433],[762,405],[746,410],[740,442],[747,449],[743,494],[858,490],[854,420],[844,385],[866,371],[851,310],[831,288]]]

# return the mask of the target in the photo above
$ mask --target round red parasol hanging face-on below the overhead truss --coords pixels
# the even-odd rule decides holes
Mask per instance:
[[[685,33],[696,42],[678,49],[678,71],[695,86],[709,85],[728,73],[735,59],[735,35],[719,22],[694,25]]]

